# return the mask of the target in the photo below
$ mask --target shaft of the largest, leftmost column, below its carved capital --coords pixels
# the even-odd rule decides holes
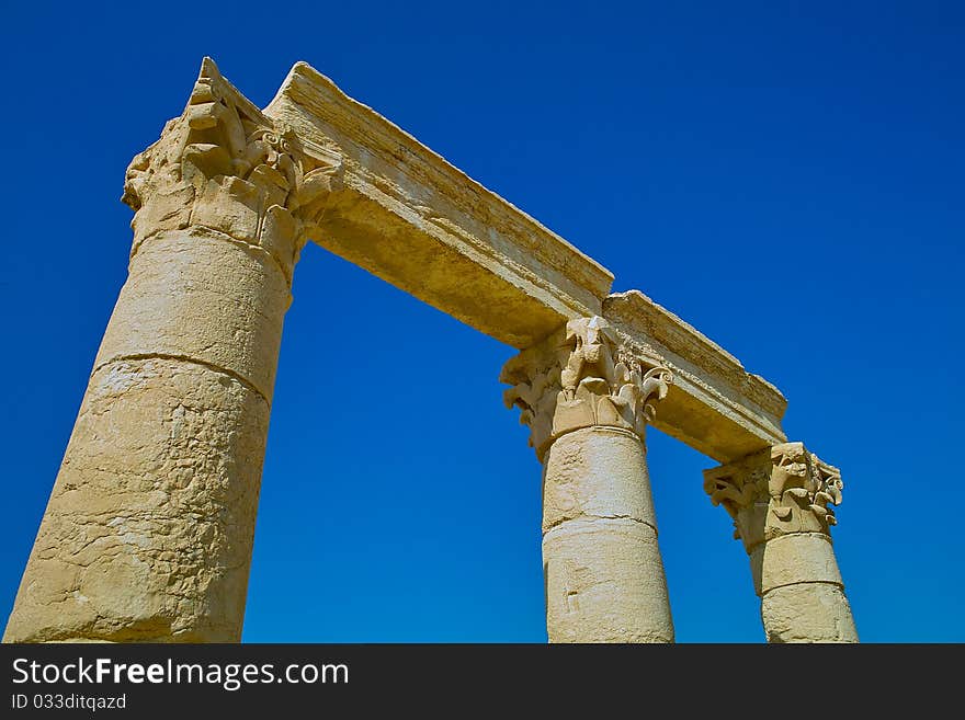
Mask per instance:
[[[288,300],[217,233],[140,245],[4,640],[240,639]]]

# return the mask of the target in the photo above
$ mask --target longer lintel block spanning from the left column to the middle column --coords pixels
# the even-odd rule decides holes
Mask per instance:
[[[341,158],[321,247],[519,348],[599,315],[608,270],[308,65],[264,113]]]

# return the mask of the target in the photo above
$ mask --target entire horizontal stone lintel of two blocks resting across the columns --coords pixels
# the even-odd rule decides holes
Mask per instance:
[[[339,163],[321,247],[521,350],[602,315],[674,374],[659,430],[720,462],[785,441],[774,386],[643,293],[608,296],[606,268],[310,66],[263,112]]]

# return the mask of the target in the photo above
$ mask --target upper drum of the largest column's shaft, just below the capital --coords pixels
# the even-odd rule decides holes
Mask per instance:
[[[204,230],[160,232],[130,261],[94,366],[184,357],[243,378],[270,400],[290,301],[284,274],[264,253]]]

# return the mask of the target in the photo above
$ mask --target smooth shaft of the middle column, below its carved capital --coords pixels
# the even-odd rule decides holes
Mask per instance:
[[[543,562],[550,642],[672,642],[642,438],[615,427],[549,447]]]

